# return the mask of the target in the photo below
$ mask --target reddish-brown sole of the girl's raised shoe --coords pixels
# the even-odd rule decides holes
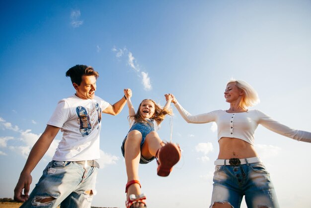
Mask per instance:
[[[167,142],[156,152],[157,175],[168,176],[173,166],[180,160],[181,152],[178,145]]]

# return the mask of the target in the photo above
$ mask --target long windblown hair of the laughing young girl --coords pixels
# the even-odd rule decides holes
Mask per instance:
[[[135,119],[136,122],[141,122],[141,123],[146,123],[148,122],[141,114],[141,106],[142,106],[142,103],[144,101],[151,101],[155,104],[155,113],[153,114],[153,116],[151,117],[151,119],[154,119],[157,123],[160,123],[164,120],[165,118],[165,115],[169,114],[171,115],[172,114],[172,110],[171,109],[168,109],[168,108],[163,108],[156,104],[156,102],[154,102],[153,100],[151,99],[145,99],[141,102],[141,104],[139,104],[139,107],[138,107],[138,110],[136,112],[135,115],[132,115],[131,117],[133,117]]]

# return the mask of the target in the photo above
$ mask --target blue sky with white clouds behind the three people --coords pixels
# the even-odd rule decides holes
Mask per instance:
[[[124,88],[132,89],[136,107],[146,98],[163,105],[164,94],[173,93],[192,114],[229,108],[227,81],[245,80],[261,100],[253,108],[311,131],[310,0],[11,0],[0,10],[0,198],[13,197],[57,102],[74,94],[65,72],[76,64],[99,72],[96,95],[111,104]],[[216,126],[187,124],[173,110],[158,133],[169,140],[172,125],[183,157],[167,178],[156,175],[156,162],[141,165],[142,191],[150,208],[206,208],[219,149]],[[103,115],[103,168],[93,206],[124,207],[120,146],[127,113]],[[58,134],[32,172],[31,188],[60,139]],[[310,206],[311,144],[259,126],[255,148],[280,206]]]

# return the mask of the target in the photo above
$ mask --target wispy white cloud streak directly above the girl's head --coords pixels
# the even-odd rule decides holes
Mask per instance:
[[[130,66],[130,68],[133,69],[136,75],[142,79],[142,84],[144,86],[145,91],[152,90],[152,85],[148,72],[146,71],[144,72],[140,69],[140,66],[137,63],[136,58],[134,57],[131,51],[129,51],[126,47],[124,47],[123,49],[121,48],[117,49],[115,46],[111,50],[115,53],[118,59],[121,59],[122,57],[126,58],[127,65]]]

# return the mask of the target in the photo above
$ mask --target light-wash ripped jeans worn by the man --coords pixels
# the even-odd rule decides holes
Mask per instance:
[[[21,208],[90,208],[96,176],[95,167],[53,160]]]

